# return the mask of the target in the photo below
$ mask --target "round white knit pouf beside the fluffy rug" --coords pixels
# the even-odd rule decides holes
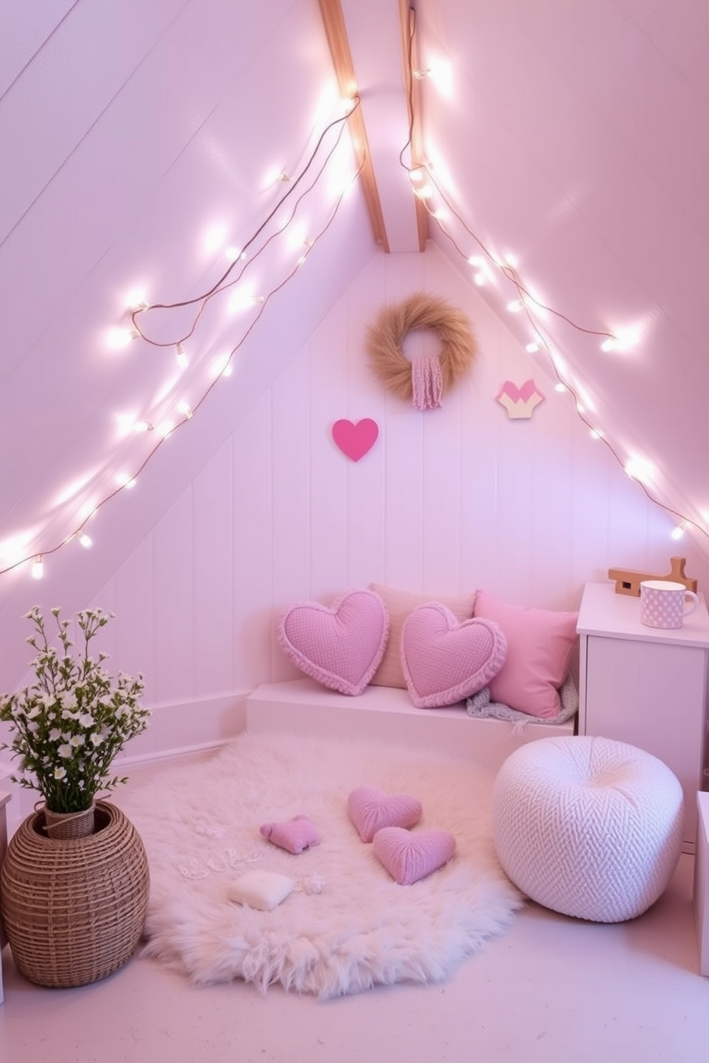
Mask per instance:
[[[679,859],[682,789],[657,757],[606,738],[540,739],[502,765],[500,862],[545,908],[621,923],[654,904]]]

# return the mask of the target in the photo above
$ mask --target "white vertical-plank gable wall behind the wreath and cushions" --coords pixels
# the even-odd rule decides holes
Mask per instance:
[[[416,290],[462,308],[479,344],[468,376],[426,412],[386,393],[365,354],[379,307]],[[434,341],[411,336],[407,349]],[[135,752],[229,733],[244,691],[297,675],[275,639],[296,600],[377,580],[576,608],[609,567],[660,571],[675,553],[704,583],[698,558],[669,538],[673,522],[591,440],[542,366],[435,248],[375,255],[96,596],[117,613],[120,667],[141,669],[161,707]],[[494,396],[533,375],[546,400],[510,421]],[[357,463],[332,441],[341,417],[379,425]]]

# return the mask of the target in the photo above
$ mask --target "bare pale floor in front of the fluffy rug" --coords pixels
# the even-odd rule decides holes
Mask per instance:
[[[640,918],[579,923],[528,906],[444,984],[321,1003],[236,982],[195,989],[134,957],[45,990],[3,951],[2,1063],[707,1063],[693,859]]]

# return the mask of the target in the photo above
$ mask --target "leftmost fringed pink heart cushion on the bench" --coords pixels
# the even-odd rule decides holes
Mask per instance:
[[[384,656],[389,614],[374,591],[345,591],[332,606],[300,602],[278,622],[281,648],[323,687],[361,694]]]

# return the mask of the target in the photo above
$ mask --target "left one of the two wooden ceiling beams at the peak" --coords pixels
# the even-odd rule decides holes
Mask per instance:
[[[344,99],[350,99],[357,91],[357,78],[355,75],[354,63],[352,62],[352,52],[350,51],[342,5],[340,0],[318,0],[318,3],[340,92]],[[367,129],[361,107],[357,107],[352,112],[348,118],[348,122],[357,157],[357,165],[360,168],[359,179],[365,193],[374,239],[382,246],[384,251],[389,252],[389,239],[384,223],[382,200],[374,176],[374,167],[372,166],[372,156],[369,150],[369,140],[367,138]]]

